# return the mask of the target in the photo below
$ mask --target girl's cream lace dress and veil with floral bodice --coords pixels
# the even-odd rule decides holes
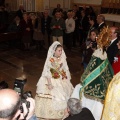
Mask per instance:
[[[67,100],[73,91],[64,50],[60,58],[54,57],[59,44],[56,41],[50,46],[42,76],[37,83],[35,114],[40,118],[62,119],[67,108]],[[52,90],[48,89],[47,79],[51,79]]]

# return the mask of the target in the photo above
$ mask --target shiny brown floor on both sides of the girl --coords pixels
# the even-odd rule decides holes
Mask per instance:
[[[65,49],[65,53],[71,72],[71,82],[75,86],[80,82],[80,76],[83,73],[80,48],[73,48],[72,51]],[[31,91],[34,97],[46,55],[47,50],[45,49],[36,50],[35,47],[32,47],[30,51],[22,51],[0,44],[0,82],[5,80],[9,88],[13,89],[15,79],[25,76],[27,82],[24,91]]]

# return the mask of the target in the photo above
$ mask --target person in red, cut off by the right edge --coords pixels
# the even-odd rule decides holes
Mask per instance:
[[[114,57],[114,62],[112,64],[114,74],[120,72],[120,39],[118,40],[117,47],[118,47],[118,53],[116,57]]]

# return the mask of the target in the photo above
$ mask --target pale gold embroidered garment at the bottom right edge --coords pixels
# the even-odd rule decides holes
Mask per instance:
[[[120,120],[120,72],[109,84],[101,120]]]

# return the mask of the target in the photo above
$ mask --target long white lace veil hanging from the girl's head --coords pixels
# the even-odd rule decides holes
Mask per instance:
[[[44,91],[43,86],[45,84],[45,80],[43,80],[43,79],[46,78],[46,77],[48,77],[48,78],[50,77],[49,76],[49,73],[50,73],[49,67],[51,66],[50,58],[53,57],[55,49],[56,49],[57,45],[59,45],[59,44],[60,43],[58,41],[55,41],[49,47],[47,58],[46,58],[45,65],[44,65],[44,68],[43,68],[43,72],[42,72],[42,75],[41,75],[41,77],[40,77],[40,79],[39,79],[39,81],[37,83],[37,91],[36,91],[37,93],[40,93],[40,92],[43,93],[43,91]],[[69,68],[68,68],[68,65],[67,65],[67,62],[66,62],[66,55],[65,55],[64,50],[62,50],[62,54],[61,54],[60,59],[63,61],[63,66],[65,68],[66,75],[67,75],[67,81],[71,80],[71,75],[70,75]]]

